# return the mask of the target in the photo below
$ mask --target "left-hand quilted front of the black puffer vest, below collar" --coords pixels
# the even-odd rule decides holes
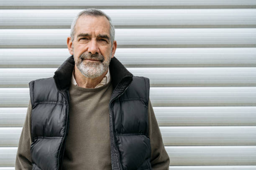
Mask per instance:
[[[31,81],[29,87],[33,167],[56,170],[64,153],[67,102],[58,92],[53,77]]]

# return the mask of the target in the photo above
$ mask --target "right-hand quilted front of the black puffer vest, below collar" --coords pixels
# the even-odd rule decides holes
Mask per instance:
[[[148,137],[149,79],[133,76],[113,103],[115,133],[124,170],[151,169]]]

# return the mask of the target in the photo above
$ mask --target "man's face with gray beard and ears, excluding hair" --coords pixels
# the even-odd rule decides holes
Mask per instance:
[[[115,54],[116,41],[111,48],[110,23],[104,16],[81,16],[75,25],[74,40],[68,37],[70,54],[75,66],[85,76],[99,77],[107,69]]]

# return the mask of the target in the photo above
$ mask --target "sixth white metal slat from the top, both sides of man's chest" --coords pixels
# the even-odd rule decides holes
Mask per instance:
[[[154,106],[256,106],[256,87],[151,87]],[[26,107],[28,88],[0,88],[0,107]]]

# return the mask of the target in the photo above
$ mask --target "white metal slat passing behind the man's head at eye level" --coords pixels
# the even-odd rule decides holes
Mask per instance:
[[[116,29],[118,45],[244,46],[256,45],[256,28]],[[0,47],[67,47],[69,29],[1,29]]]

